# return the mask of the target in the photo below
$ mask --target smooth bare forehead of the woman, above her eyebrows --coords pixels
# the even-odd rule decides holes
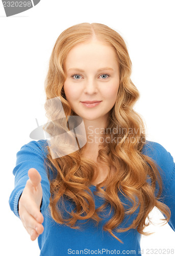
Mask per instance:
[[[117,65],[117,54],[109,44],[93,40],[90,42],[81,42],[73,46],[68,52],[64,66],[71,68],[73,65],[85,65],[93,63],[95,65]]]

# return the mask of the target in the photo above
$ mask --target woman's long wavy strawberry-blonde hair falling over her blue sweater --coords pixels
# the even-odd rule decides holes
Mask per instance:
[[[77,114],[71,109],[64,93],[64,61],[67,53],[73,46],[93,38],[105,42],[115,50],[120,75],[116,102],[109,113],[108,124],[103,134],[104,140],[99,144],[97,162],[83,157],[86,143],[82,147],[75,146],[81,134],[77,134],[75,140],[69,129],[68,118]],[[152,158],[142,153],[146,143],[145,127],[142,118],[133,109],[140,94],[131,81],[131,67],[127,46],[115,30],[103,24],[82,23],[64,30],[59,35],[45,79],[45,110],[49,121],[43,129],[52,138],[47,145],[48,154],[45,159],[51,187],[51,216],[59,224],[80,229],[80,226],[76,225],[78,220],[91,219],[98,225],[102,220],[101,212],[110,205],[114,214],[103,225],[103,229],[121,243],[123,242],[112,230],[124,232],[134,228],[148,236],[151,233],[144,232],[143,229],[150,224],[148,214],[155,206],[164,214],[165,219],[161,220],[168,222],[171,215],[168,206],[159,201],[162,193],[159,166]],[[58,100],[54,101],[58,98],[61,105]],[[111,134],[110,131],[114,129],[117,132]],[[63,136],[65,132],[66,137]],[[58,134],[60,135],[57,136]],[[108,166],[109,174],[103,182],[96,185],[96,191],[93,191],[104,199],[104,204],[95,209],[93,193],[89,186],[97,177],[97,163]],[[113,175],[110,172],[111,167],[115,169]],[[126,209],[119,195],[132,202],[132,207]],[[65,200],[75,206],[74,210],[67,211],[67,218],[64,218]],[[60,202],[62,207],[58,207]],[[120,224],[124,217],[134,214],[138,209],[137,217],[132,224],[121,228]],[[146,218],[149,220],[148,223]]]

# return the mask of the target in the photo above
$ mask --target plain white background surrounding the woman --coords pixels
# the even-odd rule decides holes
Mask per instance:
[[[147,127],[147,140],[160,143],[175,157],[174,7],[169,0],[41,0],[26,12],[6,17],[1,2],[1,255],[39,255],[37,240],[30,240],[8,200],[14,188],[16,153],[31,141],[35,118],[40,125],[46,120],[48,60],[66,28],[83,22],[102,23],[123,36],[133,63],[132,80],[141,94],[135,110]],[[153,221],[160,223],[162,215],[156,214],[154,211]],[[175,249],[175,233],[168,224],[152,225],[145,231],[155,234],[142,237],[142,255],[151,248]]]

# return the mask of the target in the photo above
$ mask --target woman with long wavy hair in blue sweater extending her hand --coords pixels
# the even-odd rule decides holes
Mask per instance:
[[[56,41],[45,81],[51,139],[21,147],[9,200],[41,255],[139,255],[154,206],[174,230],[175,164],[146,140],[131,66],[124,40],[103,24],[72,26]]]

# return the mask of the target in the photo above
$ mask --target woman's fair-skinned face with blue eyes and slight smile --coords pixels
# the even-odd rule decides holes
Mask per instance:
[[[107,120],[119,88],[115,50],[98,40],[78,44],[68,52],[64,71],[64,92],[72,110],[86,120]]]

